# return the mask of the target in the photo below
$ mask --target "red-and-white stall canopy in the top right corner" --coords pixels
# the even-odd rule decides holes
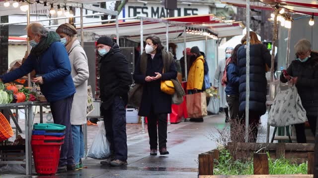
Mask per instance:
[[[238,7],[246,7],[246,0],[221,0],[221,2]],[[250,8],[273,10],[276,4],[291,12],[318,16],[317,0],[254,0],[250,2]]]

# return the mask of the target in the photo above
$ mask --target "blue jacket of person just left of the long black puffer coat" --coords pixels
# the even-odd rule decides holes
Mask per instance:
[[[227,95],[239,95],[239,67],[235,63],[229,63],[227,66]]]

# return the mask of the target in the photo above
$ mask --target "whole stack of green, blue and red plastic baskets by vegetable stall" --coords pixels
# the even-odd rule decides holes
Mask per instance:
[[[54,175],[57,172],[65,129],[58,124],[33,125],[31,145],[36,173]]]

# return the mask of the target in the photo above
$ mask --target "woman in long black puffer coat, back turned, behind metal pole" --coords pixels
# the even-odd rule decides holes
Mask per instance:
[[[250,36],[250,74],[249,74],[249,142],[256,142],[258,122],[260,116],[266,112],[267,79],[266,64],[271,66],[269,50],[257,38],[256,33],[249,32]],[[241,40],[242,46],[238,50],[239,66],[239,112],[242,122],[245,123],[245,95],[246,95],[246,35]]]

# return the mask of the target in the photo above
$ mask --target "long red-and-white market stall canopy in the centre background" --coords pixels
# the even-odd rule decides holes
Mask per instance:
[[[166,23],[169,24],[169,41],[177,43],[183,41],[181,33],[184,27],[189,29],[208,29],[217,37],[229,37],[242,34],[242,27],[239,22],[225,21],[223,18],[216,17],[213,14],[194,15],[184,17],[171,17],[162,19],[143,18],[143,34],[144,38],[148,35],[156,34],[161,39],[165,39]],[[119,23],[120,36],[125,36],[132,41],[140,41],[140,20]],[[116,24],[103,24],[95,26],[86,26],[84,31],[93,32],[99,36],[111,36],[116,33]],[[203,40],[205,36],[202,34],[187,34],[187,41]]]

